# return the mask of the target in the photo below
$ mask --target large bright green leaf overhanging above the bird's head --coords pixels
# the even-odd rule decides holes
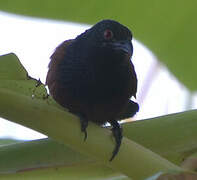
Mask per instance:
[[[195,0],[1,0],[0,9],[29,16],[94,24],[115,19],[150,48],[191,90],[197,89]]]

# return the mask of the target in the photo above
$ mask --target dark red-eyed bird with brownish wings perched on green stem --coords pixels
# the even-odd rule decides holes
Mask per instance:
[[[137,75],[131,61],[132,33],[115,20],[101,20],[75,39],[62,42],[48,65],[46,85],[54,100],[80,119],[84,140],[91,121],[111,124],[117,155],[122,141],[119,121],[139,110]]]

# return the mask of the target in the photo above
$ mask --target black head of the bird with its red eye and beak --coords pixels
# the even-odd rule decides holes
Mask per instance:
[[[102,20],[78,38],[91,40],[93,45],[109,48],[129,56],[133,54],[131,31],[114,20]]]

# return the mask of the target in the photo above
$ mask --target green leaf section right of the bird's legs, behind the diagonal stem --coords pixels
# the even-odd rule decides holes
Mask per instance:
[[[197,151],[197,110],[123,125],[124,136],[180,165]]]

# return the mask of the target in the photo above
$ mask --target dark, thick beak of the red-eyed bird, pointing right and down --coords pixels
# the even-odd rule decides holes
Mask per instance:
[[[125,53],[132,55],[133,54],[133,45],[131,41],[119,41],[119,42],[113,42],[113,49],[115,50],[121,50]]]

